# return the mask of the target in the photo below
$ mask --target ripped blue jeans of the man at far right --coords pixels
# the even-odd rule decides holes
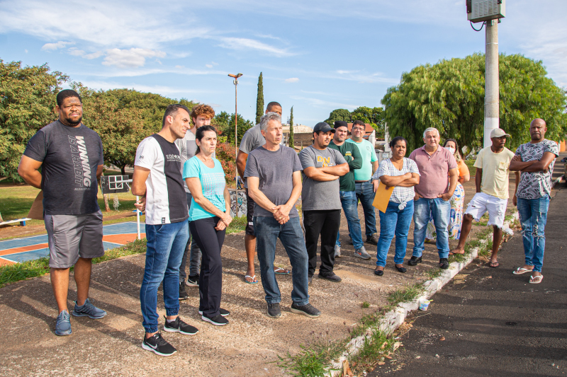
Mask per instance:
[[[547,209],[549,209],[549,197],[545,196],[538,199],[519,197],[517,200],[526,265],[534,266],[534,272],[541,272],[541,267],[544,265],[544,231],[547,222]]]

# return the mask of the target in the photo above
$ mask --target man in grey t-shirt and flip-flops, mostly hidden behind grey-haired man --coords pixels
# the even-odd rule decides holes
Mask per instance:
[[[268,112],[276,112],[281,117],[281,105],[277,102],[268,103],[266,106],[266,114]],[[248,260],[248,267],[245,274],[245,282],[248,284],[256,284],[258,280],[256,275],[254,275],[254,251],[256,250],[256,236],[254,234],[254,226],[252,225],[252,217],[254,216],[254,200],[248,195],[247,182],[244,175],[244,170],[246,167],[246,160],[250,152],[257,149],[259,146],[266,144],[266,139],[262,134],[260,129],[260,124],[256,124],[251,129],[248,129],[240,141],[240,147],[238,149],[238,154],[236,156],[236,167],[238,174],[245,180],[245,192],[246,192],[246,218],[247,226],[246,233],[244,236],[246,257]],[[287,269],[281,267],[274,267],[276,274],[289,274]]]

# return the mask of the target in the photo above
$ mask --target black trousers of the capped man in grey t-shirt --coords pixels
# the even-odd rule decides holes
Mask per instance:
[[[317,267],[317,241],[321,236],[321,266],[319,273],[327,275],[335,265],[335,242],[341,225],[341,210],[303,211],[305,248],[309,256],[308,275],[315,274]]]

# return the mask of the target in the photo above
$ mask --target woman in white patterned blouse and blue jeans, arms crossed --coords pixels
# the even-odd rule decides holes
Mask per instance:
[[[386,213],[380,214],[380,238],[378,238],[378,249],[376,257],[376,269],[374,274],[382,276],[386,267],[386,256],[395,235],[395,268],[399,272],[405,272],[403,258],[408,245],[408,232],[413,217],[413,187],[420,182],[420,172],[417,170],[415,161],[405,158],[408,141],[403,137],[395,137],[390,142],[392,158],[383,160],[378,170],[372,177],[374,191],[378,183],[382,182],[386,187],[394,187]]]

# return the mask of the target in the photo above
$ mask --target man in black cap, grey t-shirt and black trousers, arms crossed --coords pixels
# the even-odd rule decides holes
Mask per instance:
[[[317,267],[317,241],[321,236],[319,277],[340,282],[333,272],[335,240],[341,224],[339,177],[349,172],[349,164],[336,149],[327,148],[335,129],[325,122],[313,127],[313,144],[299,153],[303,167],[301,205],[305,226],[305,247],[309,255],[309,282]]]

